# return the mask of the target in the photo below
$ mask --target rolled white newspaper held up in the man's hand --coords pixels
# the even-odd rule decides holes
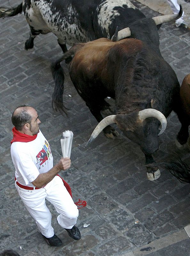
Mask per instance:
[[[60,139],[61,141],[61,149],[63,158],[71,156],[71,148],[72,148],[72,142],[73,142],[73,132],[67,130],[63,132],[63,138]]]

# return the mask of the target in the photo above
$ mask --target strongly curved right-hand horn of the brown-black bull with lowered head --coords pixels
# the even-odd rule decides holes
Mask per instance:
[[[154,109],[154,108],[146,108],[143,109],[141,111],[139,111],[139,119],[141,121],[143,121],[144,119],[148,118],[148,117],[155,117],[156,119],[158,119],[161,123],[161,131],[159,132],[158,136],[161,135],[167,126],[167,120],[165,118],[165,116],[162,114],[162,112]]]

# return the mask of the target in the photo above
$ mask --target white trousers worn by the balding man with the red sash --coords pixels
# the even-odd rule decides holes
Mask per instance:
[[[55,176],[44,188],[36,190],[20,188],[16,182],[15,186],[28,212],[45,237],[54,235],[51,227],[51,213],[45,204],[45,199],[53,204],[59,213],[57,221],[61,227],[70,229],[76,224],[78,208],[59,176]]]

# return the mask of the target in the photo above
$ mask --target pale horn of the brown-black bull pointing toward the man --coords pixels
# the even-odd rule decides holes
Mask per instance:
[[[115,124],[115,116],[116,115],[110,115],[110,116],[106,116],[104,119],[102,119],[99,124],[96,126],[96,128],[94,129],[94,131],[91,134],[90,139],[88,140],[88,142],[86,143],[86,145],[84,146],[84,148],[86,148],[94,139],[96,139],[96,137],[99,135],[99,133],[109,124]]]

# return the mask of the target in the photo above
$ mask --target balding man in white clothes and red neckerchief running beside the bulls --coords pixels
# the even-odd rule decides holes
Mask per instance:
[[[40,123],[38,113],[32,107],[19,106],[12,114],[11,156],[15,166],[15,186],[45,241],[51,246],[60,246],[62,242],[54,234],[45,199],[59,213],[59,225],[66,229],[70,237],[79,240],[81,234],[75,226],[78,209],[69,185],[58,175],[61,170],[70,167],[71,160],[61,158],[53,166],[50,145],[40,131]]]

